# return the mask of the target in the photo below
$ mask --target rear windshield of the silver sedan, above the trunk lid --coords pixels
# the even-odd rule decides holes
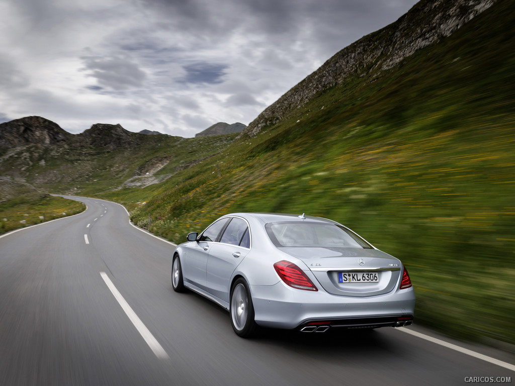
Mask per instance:
[[[361,237],[336,224],[281,221],[265,227],[276,247],[372,248]]]

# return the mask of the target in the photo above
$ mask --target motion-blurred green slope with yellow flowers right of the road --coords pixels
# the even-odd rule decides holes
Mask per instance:
[[[515,343],[514,8],[500,1],[162,184],[102,197],[175,242],[237,211],[337,220],[405,262],[418,323]]]

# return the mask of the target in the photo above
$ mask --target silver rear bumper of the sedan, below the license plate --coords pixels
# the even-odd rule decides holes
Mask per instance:
[[[305,327],[396,327],[410,324],[415,309],[413,287],[382,295],[352,297],[332,295],[323,289],[298,290],[279,282],[273,286],[251,286],[250,292],[255,322],[272,328],[310,331],[321,329]]]

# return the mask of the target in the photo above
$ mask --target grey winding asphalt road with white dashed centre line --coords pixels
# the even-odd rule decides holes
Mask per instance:
[[[0,238],[2,386],[515,383],[512,354],[451,342],[504,362],[494,364],[406,328],[241,339],[228,312],[172,290],[174,245],[120,205],[75,199],[82,214]]]

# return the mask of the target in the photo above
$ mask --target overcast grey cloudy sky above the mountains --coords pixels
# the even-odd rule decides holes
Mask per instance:
[[[0,122],[248,125],[415,0],[0,0]]]

